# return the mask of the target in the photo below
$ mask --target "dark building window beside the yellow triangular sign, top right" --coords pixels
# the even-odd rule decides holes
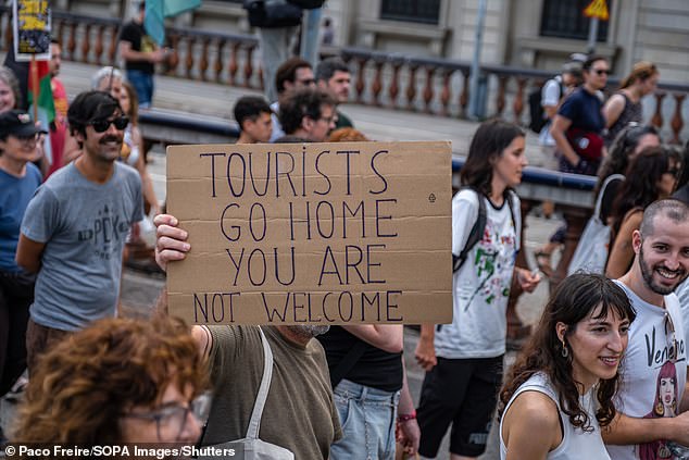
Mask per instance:
[[[591,0],[544,0],[540,35],[587,40],[591,20],[584,15],[584,10],[590,2]],[[607,11],[612,8],[611,3],[612,0],[607,0]],[[607,38],[607,23],[598,23],[598,41],[605,41]]]

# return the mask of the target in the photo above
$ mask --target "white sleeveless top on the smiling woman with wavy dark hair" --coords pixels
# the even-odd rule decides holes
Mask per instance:
[[[585,432],[581,428],[575,428],[569,423],[569,417],[560,408],[560,400],[558,393],[550,384],[548,377],[542,373],[531,375],[531,377],[524,382],[519,388],[512,395],[512,398],[505,407],[504,414],[510,410],[512,401],[521,395],[523,391],[539,391],[552,399],[558,406],[560,411],[560,420],[562,421],[563,436],[562,443],[548,452],[546,457],[548,460],[569,460],[569,459],[603,459],[610,460],[607,450],[603,445],[603,438],[601,437],[601,428],[596,419],[594,409],[594,395],[593,388],[589,389],[586,395],[579,397],[579,403],[589,415],[589,423],[593,431]],[[503,414],[503,419],[504,419]],[[504,460],[508,457],[508,448],[502,439],[502,420],[500,421],[500,460]]]

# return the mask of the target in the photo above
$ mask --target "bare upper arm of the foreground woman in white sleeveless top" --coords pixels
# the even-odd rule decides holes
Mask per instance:
[[[503,419],[500,436],[508,450],[508,460],[544,460],[548,452],[562,443],[558,407],[542,393],[522,393]]]

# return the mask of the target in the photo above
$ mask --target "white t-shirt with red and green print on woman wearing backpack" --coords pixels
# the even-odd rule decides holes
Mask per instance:
[[[505,312],[522,227],[519,199],[513,198],[514,223],[506,199],[496,208],[481,196],[486,229],[452,277],[452,324],[436,331],[438,357],[496,358],[505,352]],[[478,196],[471,189],[461,190],[452,198],[452,253],[462,252],[477,219]]]

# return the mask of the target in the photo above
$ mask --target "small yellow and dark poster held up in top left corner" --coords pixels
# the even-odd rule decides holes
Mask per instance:
[[[48,0],[14,0],[14,59],[18,62],[50,59],[50,2]]]

